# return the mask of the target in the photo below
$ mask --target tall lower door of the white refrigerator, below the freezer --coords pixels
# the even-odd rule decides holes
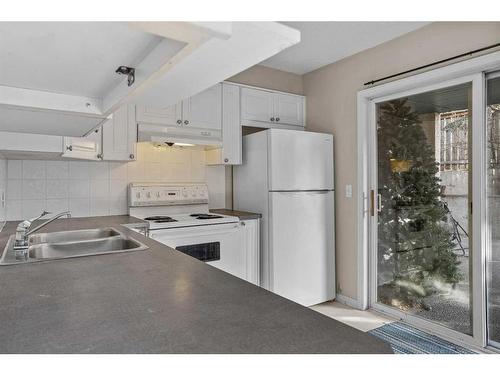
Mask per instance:
[[[304,306],[334,299],[333,191],[269,194],[271,291]]]

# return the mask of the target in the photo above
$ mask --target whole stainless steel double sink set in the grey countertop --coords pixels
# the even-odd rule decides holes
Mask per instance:
[[[115,228],[32,234],[28,239],[28,248],[22,252],[14,249],[14,239],[14,235],[9,238],[0,258],[0,265],[114,254],[148,248]]]

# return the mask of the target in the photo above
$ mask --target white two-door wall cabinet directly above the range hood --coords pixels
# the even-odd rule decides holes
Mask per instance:
[[[222,84],[208,88],[171,106],[138,105],[138,122],[197,129],[221,130]]]

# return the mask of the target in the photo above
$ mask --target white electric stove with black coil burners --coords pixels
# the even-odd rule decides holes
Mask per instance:
[[[146,235],[247,281],[259,283],[258,258],[248,256],[245,223],[211,214],[205,184],[131,183],[129,215],[148,222]],[[136,229],[133,225],[131,229]],[[254,263],[257,263],[255,265]]]

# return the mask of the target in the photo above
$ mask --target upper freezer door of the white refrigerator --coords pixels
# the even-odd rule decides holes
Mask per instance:
[[[269,131],[269,190],[333,189],[333,136]]]

